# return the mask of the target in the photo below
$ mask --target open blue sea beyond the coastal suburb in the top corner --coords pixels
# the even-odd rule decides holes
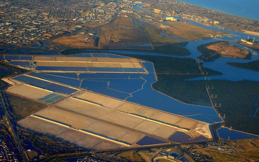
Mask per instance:
[[[234,16],[259,20],[258,0],[177,0]]]

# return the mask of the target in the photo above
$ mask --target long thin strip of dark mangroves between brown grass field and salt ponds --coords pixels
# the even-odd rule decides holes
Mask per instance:
[[[158,54],[168,54],[168,55],[175,55],[175,56],[188,56],[191,53],[183,47],[180,47],[180,45],[186,45],[186,43],[180,43],[180,44],[169,44],[169,45],[160,45],[160,46],[156,46],[154,47],[154,50],[137,50],[137,49],[116,49],[118,50],[118,53],[114,53],[114,54],[119,54],[119,51],[137,51],[137,52],[149,52],[149,53],[158,53]],[[103,53],[106,50],[111,50],[111,49],[91,49],[91,48],[70,48],[70,49],[66,49],[64,51],[61,52],[61,54],[63,55],[71,55],[71,54],[80,54],[80,53],[85,53],[87,52],[87,50],[97,50],[94,51],[95,53]],[[116,51],[114,50],[114,51]]]

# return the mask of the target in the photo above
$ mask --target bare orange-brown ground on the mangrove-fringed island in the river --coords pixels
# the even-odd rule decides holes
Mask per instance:
[[[244,48],[237,46],[232,46],[228,42],[219,42],[212,45],[206,46],[209,50],[217,51],[220,55],[225,57],[237,57],[237,58],[246,58],[249,54],[249,51]]]

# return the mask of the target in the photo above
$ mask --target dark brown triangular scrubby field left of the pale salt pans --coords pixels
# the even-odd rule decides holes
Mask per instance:
[[[22,117],[47,106],[43,103],[35,102],[33,100],[22,98],[13,94],[7,93],[7,98],[11,111],[16,114],[14,115],[16,120],[21,119]]]

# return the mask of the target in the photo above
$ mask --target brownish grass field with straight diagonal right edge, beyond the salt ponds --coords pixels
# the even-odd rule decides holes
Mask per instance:
[[[153,49],[144,27],[134,25],[127,17],[101,27],[98,48]]]

